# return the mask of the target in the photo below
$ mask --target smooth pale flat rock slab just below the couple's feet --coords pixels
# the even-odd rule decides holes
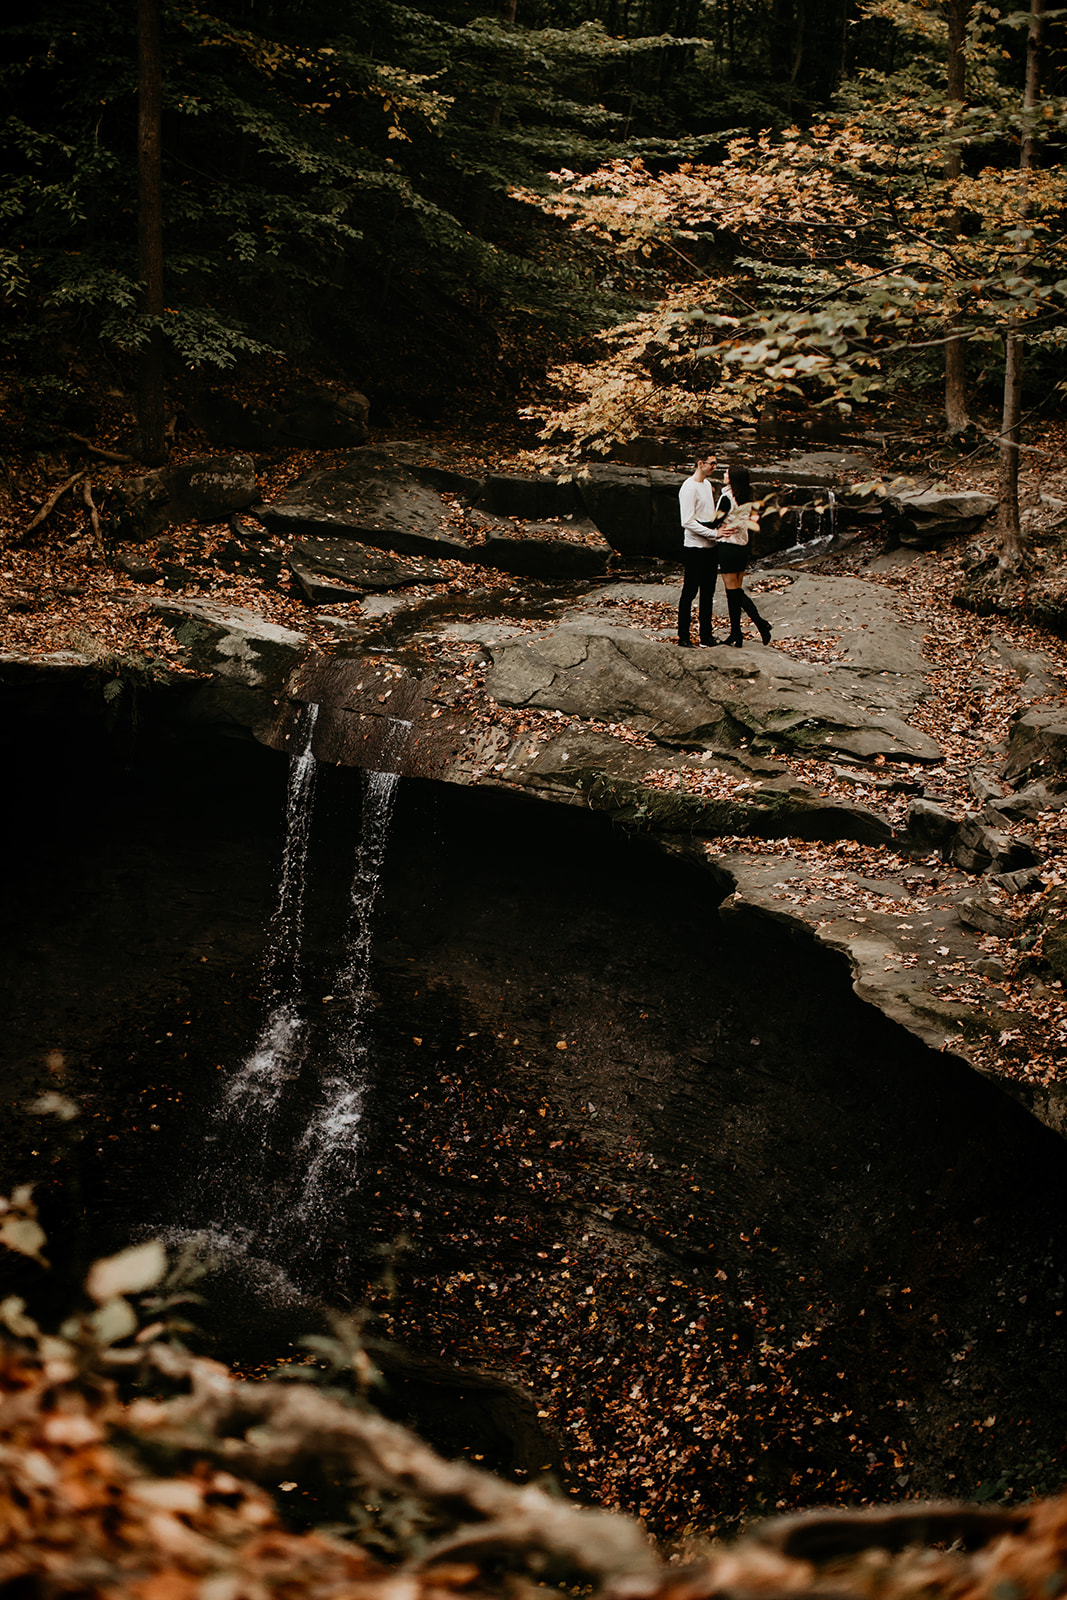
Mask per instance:
[[[776,749],[861,760],[936,762],[941,749],[873,694],[865,674],[777,650],[678,650],[632,629],[569,624],[547,638],[486,646],[486,688],[502,706],[625,722],[665,744]]]

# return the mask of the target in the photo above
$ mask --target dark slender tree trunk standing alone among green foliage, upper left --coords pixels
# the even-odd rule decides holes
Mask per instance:
[[[141,310],[163,315],[163,62],[158,0],[138,0],[138,266]],[[138,432],[150,466],[163,442],[163,333],[158,322],[138,357]]]

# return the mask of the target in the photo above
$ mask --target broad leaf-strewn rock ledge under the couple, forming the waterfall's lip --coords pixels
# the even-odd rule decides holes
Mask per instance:
[[[408,560],[421,566],[418,557]],[[475,597],[458,598],[453,610],[414,602],[390,610],[384,632],[373,619],[349,626],[344,658],[309,654],[299,637],[285,638],[275,642],[274,664],[253,659],[262,646],[246,635],[248,618],[163,602],[173,626],[189,629],[190,661],[213,674],[187,686],[184,715],[203,728],[245,726],[290,752],[302,736],[304,707],[314,704],[312,750],[323,766],[504,786],[603,813],[710,870],[739,914],[789,917],[843,952],[857,992],[926,1043],[966,1056],[971,1042],[1011,1037],[1006,997],[990,990],[976,1000],[968,984],[979,970],[984,982],[1005,971],[982,938],[997,930],[1008,939],[1009,930],[1017,941],[1040,915],[1040,893],[1021,914],[1033,894],[1035,851],[1017,821],[1057,803],[1029,781],[1040,762],[1049,774],[1056,749],[1048,662],[990,646],[1013,662],[1021,696],[1041,704],[1017,718],[1005,774],[979,774],[979,805],[960,811],[921,792],[923,771],[941,757],[921,726],[929,664],[921,624],[901,616],[891,590],[782,574],[760,598],[777,648],[750,640],[729,651],[675,646],[673,586],[609,582],[542,602],[533,629],[522,605],[510,613],[507,592],[494,595],[499,610]],[[614,608],[630,603],[649,613],[661,606],[659,635],[613,621]],[[833,648],[824,659],[790,654],[790,640],[830,629]],[[410,651],[416,642],[421,656]],[[483,651],[490,698],[474,714],[470,690],[450,664],[456,642]],[[547,718],[558,725],[545,726]],[[787,754],[845,760],[838,771],[854,803],[798,782],[781,763]],[[1021,784],[1014,792],[1009,773]],[[893,794],[912,795],[896,829],[877,810]],[[760,862],[733,848],[737,838],[777,848]],[[899,882],[878,888],[859,880],[857,888],[854,872],[821,875],[803,853],[782,853],[790,840],[885,845],[896,851]],[[939,885],[937,909],[926,891],[917,894],[926,877]],[[894,907],[907,907],[904,920]],[[944,952],[936,962],[925,954],[931,942]],[[1008,1075],[1005,1088],[1067,1130],[1057,1085]]]

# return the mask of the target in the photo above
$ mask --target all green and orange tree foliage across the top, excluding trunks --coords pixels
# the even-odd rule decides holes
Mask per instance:
[[[771,392],[853,405],[878,362],[929,338],[937,301],[976,341],[1022,315],[1056,350],[1062,203],[1033,206],[1024,238],[1005,181],[1024,131],[1024,14],[971,8],[971,104],[949,114],[941,10],[865,0],[853,27],[841,5],[537,0],[523,26],[462,0],[434,14],[162,0],[166,309],[152,320],[136,264],[133,16],[43,0],[0,24],[0,360],[27,384],[40,432],[62,416],[62,392],[43,384],[62,381],[72,349],[99,347],[128,374],[155,330],[171,374],[330,349],[373,390],[397,362],[430,371],[429,347],[432,370],[458,381],[491,374],[506,349],[534,365],[552,341],[649,314],[678,262],[710,269],[717,291],[669,307],[667,347],[678,338],[686,363],[662,395],[675,419],[701,363],[731,414]],[[837,90],[840,120],[813,122]],[[1051,154],[1067,107],[1049,99],[1030,122]],[[737,157],[745,126],[774,133]],[[950,146],[965,152],[955,194]],[[766,173],[798,195],[821,174],[837,216],[805,219],[800,200],[789,227],[761,230],[696,205],[664,226],[640,214],[630,235],[613,224],[608,248],[565,213],[545,218],[584,174],[670,174],[712,150],[723,170],[747,163],[753,210]],[[945,226],[953,208],[963,235]],[[694,363],[685,315],[704,315],[707,334],[741,302]]]

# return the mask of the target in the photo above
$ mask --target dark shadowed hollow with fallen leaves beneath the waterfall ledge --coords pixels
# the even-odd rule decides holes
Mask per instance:
[[[221,1354],[291,1355],[320,1304],[370,1304],[432,1442],[656,1531],[1048,1486],[1062,1141],[864,1006],[843,958],[720,918],[707,874],[603,816],[403,778],[355,1157],[286,1235],[363,774],[317,778],[310,1077],[234,1146],[216,1107],[262,1022],[286,762],[150,704],[109,736],[51,710],[11,728],[3,1182],[40,1184],[56,1302],[131,1230],[218,1222],[246,1174]],[[80,1118],[30,1115],[48,1088]]]

